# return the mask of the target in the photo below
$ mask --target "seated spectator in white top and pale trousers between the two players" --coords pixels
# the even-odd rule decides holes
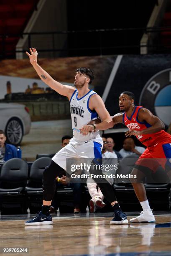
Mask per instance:
[[[103,140],[102,158],[103,159],[110,158],[111,160],[113,158],[116,159],[117,155],[115,154],[115,152],[107,151],[107,139],[102,137],[102,140]],[[103,161],[103,164],[110,164],[110,162]],[[115,174],[115,173],[112,172],[112,174]],[[112,185],[113,179],[110,179],[110,180],[108,179],[108,182],[110,182],[110,184]],[[89,211],[92,213],[92,212],[95,212],[97,207],[102,208],[105,206],[105,203],[103,202],[104,195],[102,194],[100,188],[97,186],[94,180],[91,178],[87,179],[87,188],[89,190],[90,196],[92,197],[92,199],[89,201]]]

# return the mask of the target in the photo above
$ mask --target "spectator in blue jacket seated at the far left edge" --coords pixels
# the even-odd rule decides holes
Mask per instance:
[[[4,131],[0,130],[0,162],[17,157],[17,149],[15,146],[5,143],[6,139]]]

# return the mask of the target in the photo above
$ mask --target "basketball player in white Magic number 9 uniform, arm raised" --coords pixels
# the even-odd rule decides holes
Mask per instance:
[[[67,146],[56,153],[52,158],[51,164],[43,172],[42,210],[36,218],[25,222],[25,225],[49,225],[53,223],[49,209],[55,191],[55,178],[60,175],[59,166],[66,170],[66,158],[102,159],[101,149],[103,142],[102,138],[100,138],[99,130],[106,130],[112,127],[112,119],[101,97],[94,91],[89,90],[89,84],[94,79],[91,69],[77,69],[74,81],[77,89],[75,89],[72,86],[63,85],[55,81],[38,65],[36,49],[30,49],[30,52],[31,54],[28,52],[26,54],[29,56],[30,62],[41,80],[59,94],[68,97],[71,106],[73,138]],[[87,125],[93,118],[98,116],[102,120],[101,123]],[[94,179],[94,181],[113,206],[115,216],[110,224],[127,224],[127,216],[120,209],[114,190],[109,182],[106,179]]]

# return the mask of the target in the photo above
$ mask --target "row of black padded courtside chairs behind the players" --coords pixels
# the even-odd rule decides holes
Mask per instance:
[[[123,158],[120,161],[117,173],[129,174],[137,157],[133,156],[130,165],[126,166]],[[34,162],[26,162],[22,159],[10,159],[2,164],[0,170],[0,213],[4,214],[26,214],[30,209],[31,214],[41,209],[42,205],[42,177],[43,170],[50,163],[51,158],[42,156]],[[127,162],[128,163],[128,162]],[[153,210],[168,210],[168,193],[170,183],[151,184],[151,177],[145,179],[145,188],[148,200]],[[133,187],[129,183],[115,181],[113,185],[117,200],[124,211],[138,211],[140,204],[135,196]],[[86,189],[82,195],[82,209],[85,211],[91,199]],[[72,189],[65,187],[57,190],[60,212],[73,212]],[[106,201],[105,201],[106,202]],[[106,202],[107,203],[107,202]],[[130,207],[131,206],[131,207]],[[111,207],[107,205],[102,212],[110,212]]]

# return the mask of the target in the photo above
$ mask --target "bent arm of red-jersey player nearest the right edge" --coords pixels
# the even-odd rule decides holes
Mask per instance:
[[[142,108],[139,111],[138,120],[140,120],[140,122],[146,121],[151,125],[151,127],[146,128],[142,131],[129,130],[128,132],[125,133],[126,137],[131,135],[137,136],[142,134],[156,133],[158,131],[165,129],[164,123],[156,115],[153,115],[151,111],[146,108]]]

